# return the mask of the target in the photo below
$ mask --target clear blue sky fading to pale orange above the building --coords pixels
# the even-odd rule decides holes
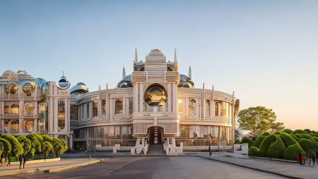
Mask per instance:
[[[318,1],[0,1],[0,73],[114,88],[158,48],[196,88],[318,130]]]

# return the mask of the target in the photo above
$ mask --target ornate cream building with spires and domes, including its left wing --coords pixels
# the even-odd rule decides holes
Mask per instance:
[[[64,137],[70,147],[94,151],[147,152],[150,145],[184,150],[232,148],[239,100],[214,87],[195,88],[173,61],[153,49],[144,61],[135,51],[133,72],[113,89],[89,92],[65,77],[56,84],[24,71],[0,77],[1,132],[41,132]],[[197,84],[196,84],[197,86]],[[105,87],[104,89],[102,89]],[[64,139],[63,138],[63,139]],[[168,154],[167,152],[167,154]],[[176,152],[176,153],[173,153]]]

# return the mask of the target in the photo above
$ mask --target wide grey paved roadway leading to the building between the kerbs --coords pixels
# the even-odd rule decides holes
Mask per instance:
[[[153,178],[153,179],[276,179],[284,178],[201,157],[116,157],[79,168],[53,172],[28,173],[3,178]]]

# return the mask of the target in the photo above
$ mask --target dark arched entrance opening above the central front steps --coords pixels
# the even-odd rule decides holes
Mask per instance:
[[[152,125],[147,129],[147,140],[150,145],[162,145],[164,141],[163,138],[163,126],[160,125]]]

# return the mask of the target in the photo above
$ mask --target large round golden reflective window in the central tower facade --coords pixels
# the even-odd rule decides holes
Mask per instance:
[[[144,100],[149,106],[163,106],[168,100],[167,91],[162,85],[153,84],[146,89]]]

